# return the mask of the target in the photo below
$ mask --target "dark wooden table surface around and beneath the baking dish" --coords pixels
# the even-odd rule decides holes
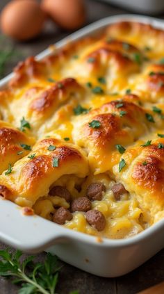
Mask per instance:
[[[8,2],[7,0],[1,0],[0,10]],[[86,24],[95,22],[97,19],[107,17],[108,15],[128,13],[127,10],[109,6],[107,3],[100,3],[98,1],[86,0],[86,6],[88,8],[88,19]],[[161,15],[161,18],[163,17],[164,16]],[[60,31],[49,23],[44,28],[40,37],[30,42],[18,43],[13,42],[9,38],[0,38],[0,50],[14,47],[17,51],[13,60],[10,60],[8,65],[6,65],[4,74],[8,74],[20,59],[40,53],[40,51],[46,49],[49,44],[53,44],[67,34],[67,32]],[[6,247],[6,245],[0,244],[0,248],[4,247]],[[42,261],[44,256],[45,254],[43,252],[38,254],[37,258]],[[133,272],[128,275],[115,279],[96,277],[74,268],[73,266],[69,266],[62,261],[61,263],[63,264],[63,268],[60,271],[60,280],[57,288],[58,294],[68,294],[69,291],[75,289],[79,290],[79,294],[133,294],[157,284],[164,279],[164,250],[158,252],[156,256],[152,257],[149,261],[140,266],[140,268],[133,270]],[[0,294],[16,294],[17,291],[17,286],[11,284],[10,281],[0,278]]]

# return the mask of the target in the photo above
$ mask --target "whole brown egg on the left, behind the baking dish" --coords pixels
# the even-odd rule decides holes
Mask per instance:
[[[1,12],[1,31],[16,40],[28,40],[40,33],[44,12],[34,0],[15,0]]]

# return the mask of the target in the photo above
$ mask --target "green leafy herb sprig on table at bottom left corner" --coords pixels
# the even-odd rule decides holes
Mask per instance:
[[[13,284],[20,286],[18,294],[57,294],[58,258],[47,254],[44,263],[34,262],[34,256],[23,259],[22,252],[10,253],[8,249],[0,250],[0,276],[13,278]],[[72,291],[69,294],[79,294]]]

